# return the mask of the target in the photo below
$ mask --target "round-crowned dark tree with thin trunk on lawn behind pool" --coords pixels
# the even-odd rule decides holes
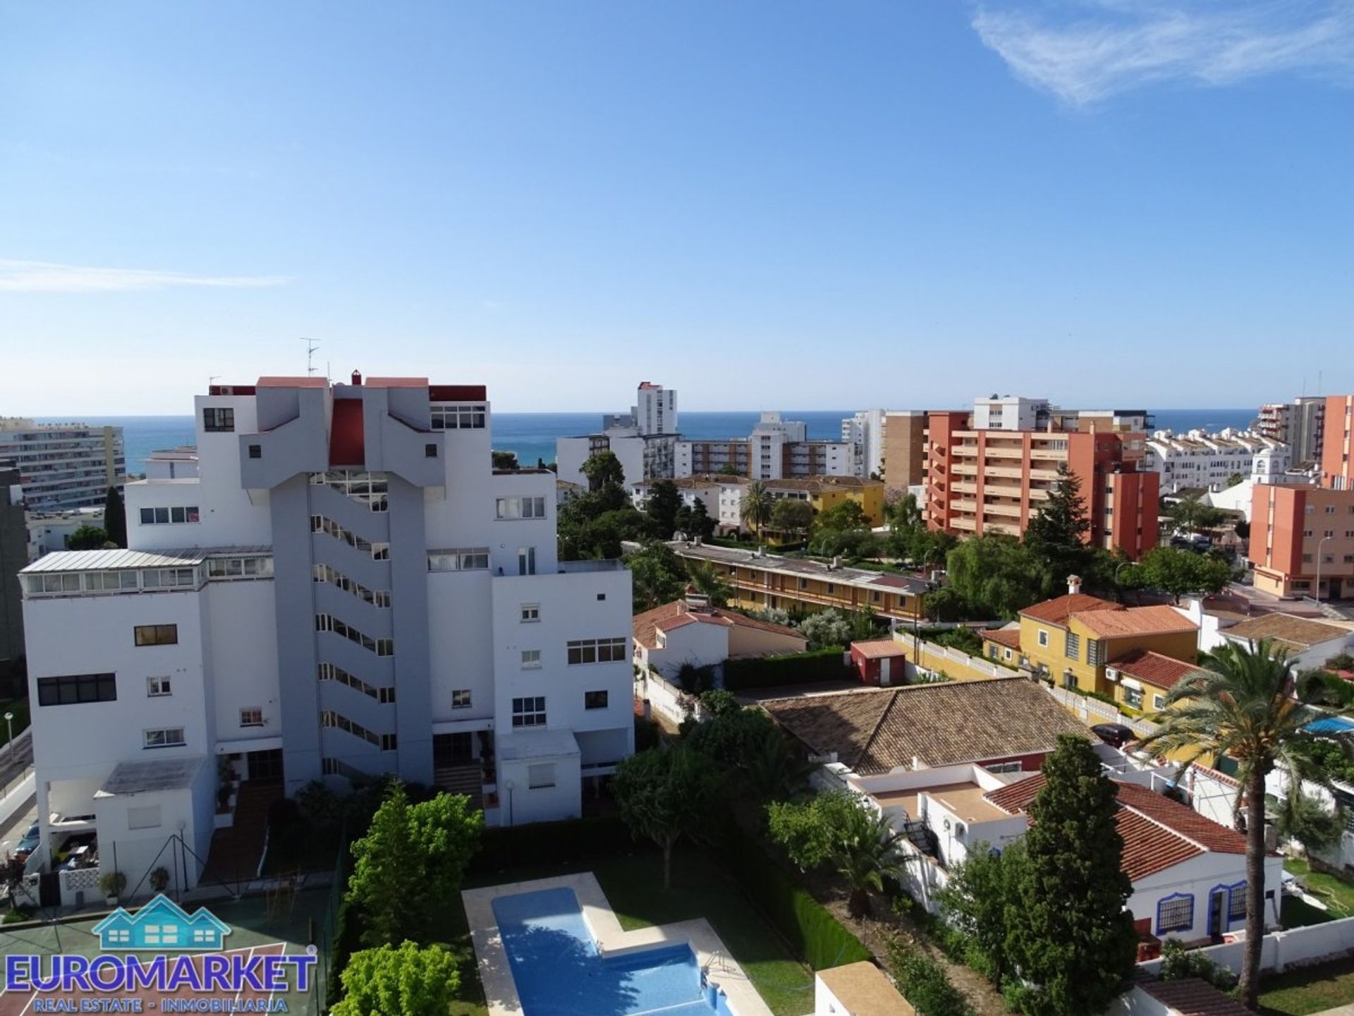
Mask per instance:
[[[612,792],[630,830],[662,848],[663,889],[672,889],[673,847],[684,836],[699,839],[708,828],[719,769],[688,746],[650,749],[616,767]]]

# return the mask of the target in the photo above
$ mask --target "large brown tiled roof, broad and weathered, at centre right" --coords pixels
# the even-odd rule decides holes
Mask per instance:
[[[953,765],[1052,750],[1059,734],[1087,727],[1044,688],[1021,677],[913,684],[762,702],[789,733],[818,755],[861,775],[914,761]]]

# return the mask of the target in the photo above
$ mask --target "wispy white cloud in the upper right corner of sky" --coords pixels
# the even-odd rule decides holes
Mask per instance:
[[[1216,87],[1294,72],[1354,83],[1354,0],[1102,0],[1041,11],[979,8],[974,30],[1017,77],[1071,106],[1155,81]]]

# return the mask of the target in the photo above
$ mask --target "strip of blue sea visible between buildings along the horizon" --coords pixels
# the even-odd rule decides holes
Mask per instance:
[[[839,438],[842,420],[853,409],[787,409],[787,420],[803,420],[810,438]],[[1220,431],[1225,427],[1244,429],[1255,419],[1255,409],[1154,409],[1156,429]],[[513,451],[523,465],[555,461],[555,439],[592,433],[601,425],[601,413],[494,413],[493,446]],[[680,416],[681,433],[697,440],[746,438],[760,419],[758,410],[686,412]],[[69,423],[69,416],[38,417],[38,423]],[[191,416],[88,416],[81,423],[95,427],[121,427],[127,454],[127,471],[145,473],[145,461],[157,448],[173,448],[196,440]]]

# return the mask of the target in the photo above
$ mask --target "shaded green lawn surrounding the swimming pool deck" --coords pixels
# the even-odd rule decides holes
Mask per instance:
[[[747,971],[776,1016],[804,1016],[812,1012],[812,971],[791,955],[780,937],[753,910],[738,885],[699,851],[681,852],[673,858],[673,887],[669,891],[661,889],[662,858],[654,852],[604,858],[575,866],[496,872],[487,878],[467,879],[466,886],[547,878],[569,871],[592,871],[597,876],[626,931],[704,917],[714,925],[733,958]],[[456,918],[460,928],[464,928],[464,913],[458,913]],[[463,941],[468,948],[468,935]],[[473,974],[471,959],[468,966],[462,966],[464,1008],[454,1007],[454,1016],[481,1016],[485,1012],[483,996]],[[467,981],[474,981],[474,986],[470,988]]]

